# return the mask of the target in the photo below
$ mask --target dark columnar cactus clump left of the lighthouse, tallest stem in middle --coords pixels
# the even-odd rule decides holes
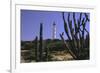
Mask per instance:
[[[36,62],[48,61],[48,48],[43,47],[43,24],[40,23],[40,34],[39,34],[39,47],[38,37],[35,39],[35,57]],[[45,52],[45,53],[44,53]]]

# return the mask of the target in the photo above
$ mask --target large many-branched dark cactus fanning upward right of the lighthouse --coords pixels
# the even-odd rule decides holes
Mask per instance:
[[[86,29],[86,22],[89,22],[89,18],[86,13],[84,13],[84,18],[82,17],[82,15],[83,13],[80,13],[79,19],[76,20],[75,13],[73,13],[73,19],[70,19],[70,13],[68,13],[66,22],[64,18],[64,12],[62,13],[64,30],[70,42],[66,42],[61,34],[60,37],[64,41],[64,44],[66,45],[69,53],[73,56],[74,59],[82,59],[84,57],[81,53],[86,46],[85,43],[87,39],[85,39],[85,32],[87,32],[89,36],[89,32]],[[72,21],[74,23],[73,26]]]

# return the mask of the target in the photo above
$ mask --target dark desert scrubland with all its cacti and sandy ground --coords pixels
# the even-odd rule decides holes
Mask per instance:
[[[48,62],[89,60],[89,31],[86,23],[90,21],[87,13],[79,13],[76,19],[75,12],[65,17],[62,12],[64,31],[59,33],[61,39],[43,39],[43,23],[40,23],[39,35],[32,41],[21,40],[21,62]],[[59,29],[60,30],[60,29]],[[63,36],[66,35],[67,39]],[[39,36],[39,37],[38,37]]]

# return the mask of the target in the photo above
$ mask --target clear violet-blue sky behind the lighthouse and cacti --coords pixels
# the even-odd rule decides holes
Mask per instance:
[[[65,12],[65,19],[67,21],[67,14]],[[70,12],[72,19],[72,12]],[[79,18],[80,12],[75,12],[76,19]],[[87,13],[90,18],[90,14]],[[84,15],[82,16],[84,17]],[[37,11],[37,10],[21,10],[21,40],[34,40],[36,36],[39,37],[40,23],[43,23],[43,38],[52,39],[53,23],[56,24],[56,36],[60,39],[59,34],[64,32],[64,22],[62,19],[62,12],[56,11]],[[89,22],[86,29],[89,31]],[[67,39],[66,34],[64,38]]]

